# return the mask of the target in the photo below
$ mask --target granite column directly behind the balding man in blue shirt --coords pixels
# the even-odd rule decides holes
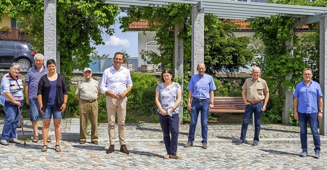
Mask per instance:
[[[198,63],[204,63],[204,10],[198,10],[197,6],[192,8],[192,66],[191,73],[198,73]],[[195,129],[196,135],[201,135],[201,112]]]

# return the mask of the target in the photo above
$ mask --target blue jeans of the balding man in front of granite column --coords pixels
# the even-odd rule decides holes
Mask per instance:
[[[208,112],[209,112],[209,99],[204,101],[192,101],[191,109],[191,123],[189,131],[189,142],[193,143],[195,127],[198,122],[199,112],[201,111],[201,135],[202,143],[207,141],[208,136]]]

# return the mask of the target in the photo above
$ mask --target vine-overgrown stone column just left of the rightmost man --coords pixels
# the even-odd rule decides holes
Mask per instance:
[[[291,28],[291,30],[293,30]],[[293,47],[293,31],[291,32],[292,39],[291,41],[286,42],[287,46],[289,48]],[[293,50],[291,51],[291,57],[293,56]],[[291,80],[293,75],[287,76],[285,79],[286,80]],[[283,106],[283,113],[282,113],[282,122],[283,125],[290,125],[290,109],[293,108],[293,88],[291,91],[283,90],[283,94],[285,95],[285,101],[284,101],[284,106]]]

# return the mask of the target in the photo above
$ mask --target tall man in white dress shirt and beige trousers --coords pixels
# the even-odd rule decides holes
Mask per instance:
[[[115,115],[117,114],[120,151],[129,154],[126,148],[125,139],[125,118],[126,118],[126,94],[132,90],[132,80],[129,69],[122,67],[123,53],[115,53],[113,65],[103,71],[100,83],[100,90],[106,94],[106,106],[108,114],[108,134],[110,146],[106,151],[110,154],[114,151],[115,143]]]

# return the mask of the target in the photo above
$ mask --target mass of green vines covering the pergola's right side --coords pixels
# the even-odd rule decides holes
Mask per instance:
[[[326,6],[323,0],[307,2],[306,0],[270,0],[269,3],[305,5],[305,6]],[[270,93],[273,94],[273,106],[266,114],[281,119],[284,102],[283,90],[291,90],[302,81],[302,70],[311,67],[314,75],[319,76],[319,34],[310,33],[297,37],[297,28],[291,24],[297,19],[295,17],[271,16],[267,18],[256,17],[250,21],[254,37],[260,39],[261,50],[264,57],[256,60],[260,66],[263,77],[267,81]],[[318,23],[309,25],[310,30],[315,31]],[[294,38],[294,47],[290,41]],[[292,75],[291,79],[286,79]],[[271,101],[270,101],[271,102]],[[278,120],[278,119],[277,119]],[[279,120],[278,120],[279,121]],[[272,122],[278,123],[278,122]]]

